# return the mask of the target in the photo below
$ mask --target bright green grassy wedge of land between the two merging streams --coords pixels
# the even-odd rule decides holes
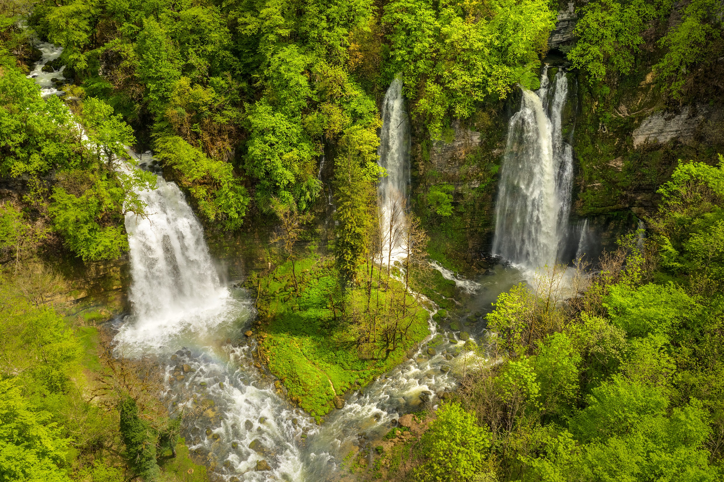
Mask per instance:
[[[429,313],[413,308],[413,323],[399,346],[386,356],[358,350],[357,326],[345,310],[366,308],[361,288],[342,293],[331,258],[310,256],[296,262],[299,292],[291,263],[261,279],[258,310],[265,322],[261,348],[271,373],[300,407],[319,417],[334,407],[335,395],[366,385],[401,363],[408,350],[428,334]],[[252,276],[249,284],[259,287]],[[384,306],[385,293],[372,289]],[[342,303],[344,300],[344,303]]]

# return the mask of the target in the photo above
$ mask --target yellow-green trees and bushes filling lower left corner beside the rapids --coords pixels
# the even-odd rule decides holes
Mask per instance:
[[[103,313],[65,317],[51,305],[63,289],[38,262],[0,277],[0,480],[157,478],[156,455],[175,447],[180,420],[159,406],[157,376],[110,358],[108,340],[82,321]],[[179,462],[197,467],[188,454]]]

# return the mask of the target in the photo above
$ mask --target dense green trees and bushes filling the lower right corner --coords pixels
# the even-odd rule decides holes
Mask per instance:
[[[502,293],[487,314],[486,352],[461,374],[408,467],[390,473],[720,480],[723,168],[680,162],[647,219],[654,237],[620,239],[590,282],[573,279],[578,297],[565,299],[557,268]]]

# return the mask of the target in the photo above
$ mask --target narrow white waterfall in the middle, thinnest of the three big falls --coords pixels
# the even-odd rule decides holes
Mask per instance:
[[[382,103],[382,131],[379,135],[379,165],[387,177],[379,182],[377,198],[382,211],[384,260],[404,258],[405,207],[410,182],[410,123],[405,111],[403,83],[400,77],[390,84]]]

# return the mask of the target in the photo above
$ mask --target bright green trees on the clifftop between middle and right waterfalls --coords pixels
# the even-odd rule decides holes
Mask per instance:
[[[515,83],[537,87],[555,12],[541,0],[392,0],[382,25],[390,30],[388,72],[403,73],[412,114],[440,138],[449,114],[470,117],[476,103],[505,98]]]

